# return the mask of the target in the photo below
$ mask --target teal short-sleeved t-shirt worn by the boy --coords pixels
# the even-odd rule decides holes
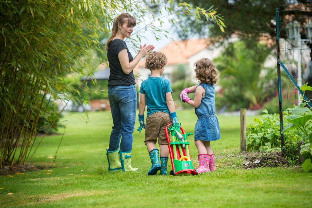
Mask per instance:
[[[166,93],[172,92],[170,81],[162,77],[149,77],[141,84],[140,93],[145,94],[147,116],[158,111],[170,114]]]

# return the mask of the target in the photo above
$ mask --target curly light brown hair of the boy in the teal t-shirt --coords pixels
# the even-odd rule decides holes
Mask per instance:
[[[145,69],[159,69],[167,64],[167,57],[159,51],[150,51],[145,58]]]

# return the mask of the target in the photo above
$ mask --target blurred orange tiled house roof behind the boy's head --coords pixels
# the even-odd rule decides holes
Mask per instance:
[[[167,65],[188,64],[188,58],[210,46],[208,39],[191,39],[184,41],[171,41],[159,51],[168,59]],[[145,59],[140,61],[138,66],[144,67]]]

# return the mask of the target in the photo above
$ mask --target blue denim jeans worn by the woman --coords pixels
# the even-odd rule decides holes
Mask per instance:
[[[108,87],[110,110],[113,117],[113,130],[110,133],[108,151],[119,148],[122,152],[132,150],[132,142],[137,106],[137,93],[134,85]],[[121,138],[121,141],[120,141]]]

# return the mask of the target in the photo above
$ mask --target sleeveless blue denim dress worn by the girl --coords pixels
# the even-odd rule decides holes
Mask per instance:
[[[197,123],[194,140],[215,141],[220,139],[220,126],[216,116],[215,87],[211,84],[199,84],[205,90],[205,96],[198,108],[195,108]],[[197,88],[197,87],[196,87]],[[196,94],[196,89],[195,89]]]

